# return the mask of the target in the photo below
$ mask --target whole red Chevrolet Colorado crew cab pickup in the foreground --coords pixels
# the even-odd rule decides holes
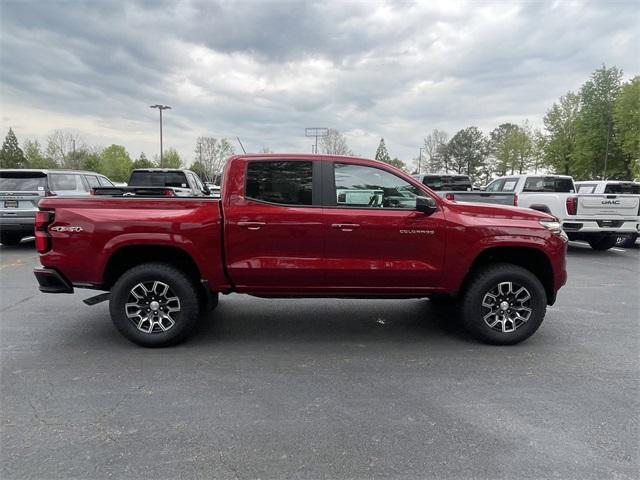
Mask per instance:
[[[185,339],[231,292],[457,298],[476,338],[514,344],[567,278],[556,218],[450,202],[372,160],[234,156],[220,200],[165,195],[43,198],[40,290],[109,292],[86,302],[108,298],[118,330],[149,347]]]

